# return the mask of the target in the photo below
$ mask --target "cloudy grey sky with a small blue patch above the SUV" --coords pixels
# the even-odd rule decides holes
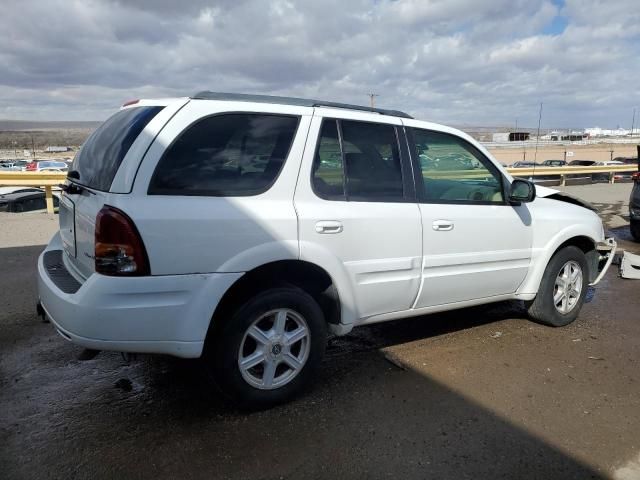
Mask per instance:
[[[378,106],[460,126],[535,126],[543,102],[543,127],[629,128],[639,7],[0,0],[0,118],[102,120],[131,98],[209,89],[360,104],[374,92]]]

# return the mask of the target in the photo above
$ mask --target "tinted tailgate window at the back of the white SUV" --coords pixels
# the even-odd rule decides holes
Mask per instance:
[[[140,132],[164,107],[134,107],[120,110],[104,122],[82,145],[71,170],[77,182],[107,191],[118,168]]]

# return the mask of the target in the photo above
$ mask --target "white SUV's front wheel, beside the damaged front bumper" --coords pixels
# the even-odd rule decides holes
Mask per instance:
[[[559,292],[563,290],[562,282],[567,276],[574,278],[574,281],[567,285],[568,295],[562,296]],[[528,305],[529,316],[534,321],[552,327],[569,325],[580,313],[588,283],[588,266],[584,252],[573,246],[559,250],[551,257],[542,276],[538,294]],[[555,295],[559,296],[557,304],[554,301]]]

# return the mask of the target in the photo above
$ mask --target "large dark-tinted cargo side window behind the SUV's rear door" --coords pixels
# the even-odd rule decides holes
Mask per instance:
[[[150,195],[248,196],[275,182],[299,118],[232,113],[203,118],[167,149]]]

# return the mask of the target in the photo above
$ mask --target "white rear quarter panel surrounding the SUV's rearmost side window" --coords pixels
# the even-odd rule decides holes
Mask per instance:
[[[198,119],[225,112],[300,117],[275,184],[247,197],[147,195],[153,171],[174,139]],[[114,206],[137,225],[152,275],[245,272],[271,261],[299,258],[293,192],[312,113],[305,107],[191,100],[175,114],[150,145],[132,193],[112,196]]]

